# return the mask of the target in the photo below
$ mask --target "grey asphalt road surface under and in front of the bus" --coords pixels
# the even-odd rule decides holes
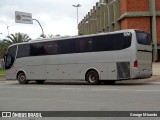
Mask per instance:
[[[0,81],[0,111],[160,111],[160,80],[155,77],[96,86],[81,81],[43,85]]]

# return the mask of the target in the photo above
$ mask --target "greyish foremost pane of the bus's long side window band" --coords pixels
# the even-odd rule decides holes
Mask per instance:
[[[29,44],[18,45],[17,58],[29,56]]]

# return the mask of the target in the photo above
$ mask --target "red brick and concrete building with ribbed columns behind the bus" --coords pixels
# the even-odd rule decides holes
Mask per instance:
[[[79,35],[123,29],[150,33],[153,60],[160,60],[160,0],[100,0],[78,25]]]

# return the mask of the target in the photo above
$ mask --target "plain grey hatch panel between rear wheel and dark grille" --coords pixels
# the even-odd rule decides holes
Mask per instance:
[[[108,63],[108,80],[117,80],[116,63]]]

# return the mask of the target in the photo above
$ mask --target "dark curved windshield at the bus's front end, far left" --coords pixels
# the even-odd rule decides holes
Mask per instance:
[[[8,48],[8,52],[5,56],[5,69],[10,69],[14,63],[17,46],[11,46]]]

